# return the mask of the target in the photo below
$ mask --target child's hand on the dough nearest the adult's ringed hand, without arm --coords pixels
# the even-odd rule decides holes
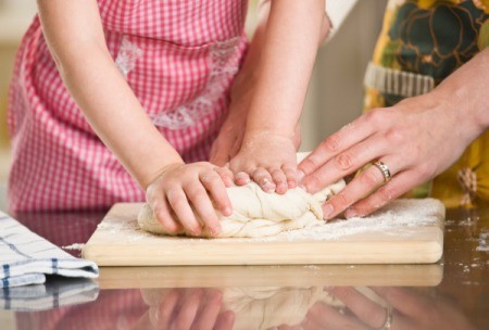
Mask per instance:
[[[269,131],[247,132],[238,154],[229,162],[236,183],[246,185],[250,177],[264,191],[286,193],[297,187],[297,160],[293,137]]]

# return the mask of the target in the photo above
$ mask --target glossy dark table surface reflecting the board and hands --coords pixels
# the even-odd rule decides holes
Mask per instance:
[[[73,249],[103,215],[16,218],[79,256]],[[489,329],[488,279],[489,205],[482,205],[448,210],[443,258],[435,265],[104,267],[96,281],[52,277],[45,285],[4,291],[12,303],[2,304],[0,327]]]

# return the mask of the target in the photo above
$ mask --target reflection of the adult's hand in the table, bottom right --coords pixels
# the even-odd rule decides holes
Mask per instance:
[[[334,308],[322,302],[311,307],[303,329],[475,329],[462,310],[443,297],[430,297],[412,289],[371,288],[385,307],[351,287],[328,289],[344,303]],[[384,327],[384,328],[383,328]]]

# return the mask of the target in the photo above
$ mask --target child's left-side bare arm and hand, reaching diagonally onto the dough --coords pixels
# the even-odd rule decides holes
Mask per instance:
[[[64,84],[97,135],[139,185],[145,189],[152,186],[147,199],[158,218],[170,231],[178,230],[180,225],[171,217],[173,208],[183,216],[181,225],[198,234],[201,225],[188,212],[191,201],[205,225],[218,231],[205,189],[227,214],[224,211],[230,203],[224,183],[208,163],[185,165],[153,126],[111,58],[97,1],[38,0],[38,7],[43,35]],[[156,179],[160,176],[174,178],[173,185],[168,188],[165,180]]]

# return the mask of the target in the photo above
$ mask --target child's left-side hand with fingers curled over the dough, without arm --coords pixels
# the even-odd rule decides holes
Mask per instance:
[[[171,233],[185,229],[191,236],[200,236],[206,227],[211,233],[218,234],[221,225],[212,201],[223,215],[229,216],[231,204],[226,186],[231,183],[229,170],[210,163],[171,164],[149,185],[146,200]]]

